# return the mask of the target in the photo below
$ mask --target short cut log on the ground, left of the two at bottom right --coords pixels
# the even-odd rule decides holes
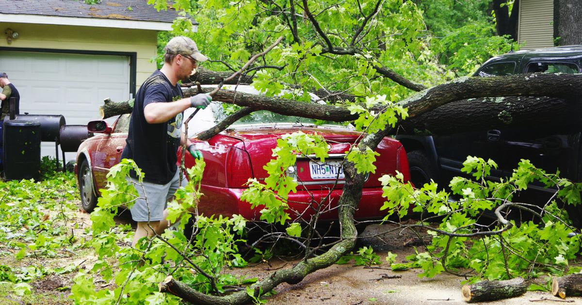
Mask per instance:
[[[461,294],[465,302],[487,302],[523,295],[529,286],[525,279],[514,278],[506,281],[483,281],[473,285],[463,285]]]

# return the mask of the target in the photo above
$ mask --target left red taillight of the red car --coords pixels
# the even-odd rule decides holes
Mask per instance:
[[[249,153],[230,147],[226,156],[226,175],[229,188],[247,188],[247,180],[253,178]]]

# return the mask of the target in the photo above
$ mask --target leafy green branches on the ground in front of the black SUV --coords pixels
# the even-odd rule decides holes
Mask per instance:
[[[580,204],[582,184],[545,173],[529,160],[521,160],[512,176],[499,182],[485,178],[497,168],[493,160],[469,156],[463,166],[472,178],[453,178],[450,193],[434,182],[413,189],[402,176],[382,177],[386,219],[392,214],[404,217],[409,210],[429,213],[409,226],[428,228],[432,235],[427,252],[409,257],[409,266],[423,268],[419,277],[443,271],[460,274],[460,268],[469,270],[463,276],[472,275],[471,281],[580,271],[568,266],[580,252],[580,236],[569,238],[574,228],[560,204]],[[514,197],[533,182],[556,189],[555,195],[544,206],[515,202]],[[492,212],[496,219],[487,220]],[[438,227],[428,225],[436,219]]]

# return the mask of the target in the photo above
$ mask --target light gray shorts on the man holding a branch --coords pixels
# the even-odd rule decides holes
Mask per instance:
[[[137,184],[137,179],[132,177],[127,177],[128,181],[134,182],[137,193],[140,197],[133,204],[131,209],[132,218],[134,221],[158,221],[164,218],[164,209],[168,205],[168,200],[174,196],[176,190],[179,188],[180,184],[180,167],[176,170],[176,174],[172,178],[172,181],[166,184],[155,184],[151,182],[143,182],[144,187],[142,188]],[[185,185],[186,181],[182,181]],[[144,193],[145,190],[145,193]],[[147,201],[143,198],[147,198]],[[148,205],[150,209],[148,211]]]

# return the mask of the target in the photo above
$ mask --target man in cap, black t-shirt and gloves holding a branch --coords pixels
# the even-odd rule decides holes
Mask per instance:
[[[137,221],[133,244],[169,227],[166,203],[178,189],[180,170],[176,152],[189,140],[182,132],[183,112],[189,107],[204,108],[212,98],[198,94],[183,98],[178,81],[194,74],[198,62],[207,60],[193,40],[174,37],[164,48],[164,66],[145,80],[137,91],[122,159],[133,159],[144,173],[144,187],[137,186],[138,199],[130,209]],[[137,182],[135,177],[130,178]],[[145,190],[145,193],[144,193]]]

